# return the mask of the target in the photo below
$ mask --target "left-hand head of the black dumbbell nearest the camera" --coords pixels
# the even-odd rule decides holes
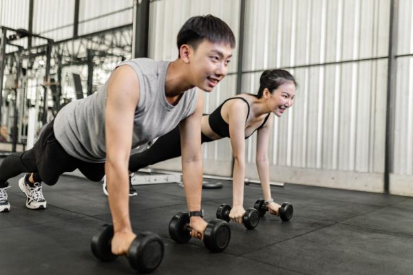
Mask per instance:
[[[113,225],[103,225],[104,229],[92,236],[90,248],[94,256],[101,261],[114,261],[118,258],[112,253],[112,238],[114,237]]]

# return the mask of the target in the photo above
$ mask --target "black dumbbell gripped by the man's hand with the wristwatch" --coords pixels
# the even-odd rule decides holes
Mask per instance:
[[[192,228],[189,226],[189,214],[178,212],[169,222],[169,236],[177,243],[187,243],[191,239]],[[222,252],[229,244],[231,230],[228,223],[220,219],[209,221],[204,231],[204,245],[211,252]]]

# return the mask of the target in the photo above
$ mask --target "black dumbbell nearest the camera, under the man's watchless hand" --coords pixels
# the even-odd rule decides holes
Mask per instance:
[[[103,225],[103,231],[92,236],[92,253],[101,261],[114,261],[118,255],[112,253],[113,225]],[[164,244],[157,234],[140,232],[131,243],[127,259],[134,270],[152,272],[160,265],[164,254]]]

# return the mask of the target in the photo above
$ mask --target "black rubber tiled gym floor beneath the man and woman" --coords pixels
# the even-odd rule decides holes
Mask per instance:
[[[101,263],[90,250],[100,225],[110,223],[101,184],[62,176],[44,186],[47,209],[25,208],[18,178],[8,189],[11,210],[0,213],[0,274],[134,274],[125,257]],[[231,242],[211,253],[198,239],[169,237],[173,214],[187,209],[178,184],[136,186],[131,197],[134,230],[162,237],[165,256],[153,274],[413,274],[413,198],[286,184],[273,187],[275,201],[290,201],[294,217],[266,214],[255,230],[230,223]],[[244,206],[262,197],[245,188]],[[232,184],[203,190],[205,218],[232,203]]]

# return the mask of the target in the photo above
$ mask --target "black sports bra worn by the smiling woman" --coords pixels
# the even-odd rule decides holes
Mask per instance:
[[[229,125],[228,123],[225,122],[225,120],[222,118],[221,115],[221,109],[222,106],[224,105],[225,102],[227,102],[228,100],[231,99],[240,99],[240,100],[244,100],[244,102],[246,103],[246,105],[248,106],[248,113],[246,114],[246,118],[248,119],[248,115],[249,115],[249,111],[250,111],[250,106],[248,104],[248,101],[246,101],[245,98],[240,98],[240,97],[233,97],[233,98],[228,98],[227,100],[225,100],[224,102],[222,102],[222,104],[220,104],[220,106],[218,106],[217,109],[215,109],[208,118],[208,122],[209,122],[209,126],[211,127],[212,131],[214,131],[217,135],[220,135],[220,137],[229,137]],[[253,131],[253,133],[255,131],[257,131],[258,129],[262,128],[262,126],[264,126],[265,122],[268,120],[268,118],[270,117],[271,113],[268,113],[268,115],[264,118],[264,122],[262,122],[262,124],[260,125],[260,127],[258,127],[257,129],[255,129]],[[251,135],[253,135],[253,133],[251,133]],[[248,137],[251,137],[251,135],[248,135]],[[247,139],[248,137],[245,137],[245,139]]]

